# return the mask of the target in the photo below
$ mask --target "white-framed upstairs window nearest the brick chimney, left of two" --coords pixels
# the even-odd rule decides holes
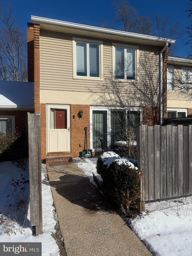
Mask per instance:
[[[82,78],[101,79],[101,42],[77,39],[75,47],[75,76]]]

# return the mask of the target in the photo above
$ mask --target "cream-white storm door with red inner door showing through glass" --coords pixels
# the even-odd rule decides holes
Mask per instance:
[[[47,153],[70,152],[70,106],[47,105]]]

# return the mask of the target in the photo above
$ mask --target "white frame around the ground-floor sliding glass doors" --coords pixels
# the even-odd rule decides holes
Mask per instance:
[[[92,151],[95,151],[93,148],[93,112],[92,110],[102,110],[102,111],[107,111],[107,141],[109,145],[111,144],[111,136],[110,136],[110,131],[111,131],[111,115],[110,115],[110,110],[113,110],[113,107],[103,107],[103,106],[90,106],[90,148]],[[143,110],[138,108],[138,107],[131,107],[131,108],[114,108],[114,110],[129,110],[129,111],[141,111],[140,115],[140,120],[142,123],[143,120]]]

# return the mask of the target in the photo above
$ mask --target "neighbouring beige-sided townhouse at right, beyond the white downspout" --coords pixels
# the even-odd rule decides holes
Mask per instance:
[[[192,114],[192,59],[168,57],[167,118],[184,118]]]

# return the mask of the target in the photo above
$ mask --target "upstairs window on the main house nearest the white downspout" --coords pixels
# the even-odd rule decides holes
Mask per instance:
[[[115,79],[137,80],[137,49],[115,46]]]

